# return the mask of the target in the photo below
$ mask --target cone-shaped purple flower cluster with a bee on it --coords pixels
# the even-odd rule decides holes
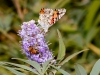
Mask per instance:
[[[34,20],[24,22],[19,30],[19,36],[22,38],[21,44],[23,52],[28,59],[36,61],[40,64],[53,58],[48,45],[45,41],[44,35],[40,28],[35,24]],[[37,53],[31,53],[29,48],[36,50]]]

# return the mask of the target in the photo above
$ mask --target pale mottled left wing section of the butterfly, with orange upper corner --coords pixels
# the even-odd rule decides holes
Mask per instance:
[[[44,29],[44,32],[47,32],[48,28],[51,26],[49,24],[49,22],[50,22],[50,20],[52,18],[52,15],[53,15],[53,10],[52,9],[44,9],[44,8],[42,8],[40,10],[38,23]]]

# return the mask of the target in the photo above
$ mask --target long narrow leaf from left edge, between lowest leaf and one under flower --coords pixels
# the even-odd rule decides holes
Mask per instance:
[[[28,67],[28,66],[25,66],[25,65],[20,65],[20,64],[15,64],[15,63],[10,63],[10,62],[0,62],[1,65],[13,65],[13,66],[16,66],[16,67],[20,67],[20,68],[23,68],[27,71],[30,71],[30,72],[33,72],[33,73],[36,73],[36,74],[39,74],[37,71],[35,71],[34,69]]]

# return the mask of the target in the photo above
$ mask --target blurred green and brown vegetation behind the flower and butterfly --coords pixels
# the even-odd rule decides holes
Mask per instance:
[[[21,63],[11,58],[26,58],[21,52],[18,30],[24,21],[37,21],[41,8],[67,9],[66,14],[50,28],[46,40],[52,43],[49,47],[55,58],[59,48],[57,29],[66,46],[66,57],[89,49],[62,67],[75,75],[74,64],[79,63],[89,73],[100,58],[100,0],[0,0],[0,61]],[[0,75],[13,74],[0,67]]]

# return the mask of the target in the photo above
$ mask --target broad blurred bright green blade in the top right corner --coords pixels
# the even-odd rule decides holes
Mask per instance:
[[[90,27],[92,26],[93,19],[95,19],[96,12],[99,10],[99,8],[100,8],[100,1],[94,0],[90,5],[88,14],[87,14],[86,19],[85,19],[84,26],[85,26],[86,31],[89,30]]]

